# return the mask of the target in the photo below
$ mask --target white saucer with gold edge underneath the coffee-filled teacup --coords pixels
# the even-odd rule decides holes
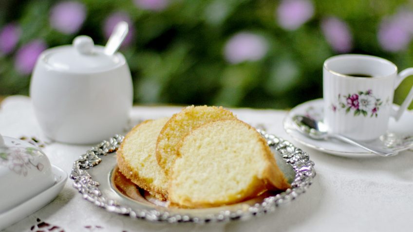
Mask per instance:
[[[394,107],[398,107],[394,105]],[[323,99],[316,99],[308,101],[294,107],[285,117],[283,125],[285,131],[297,142],[314,148],[316,150],[330,153],[339,156],[376,156],[373,153],[366,151],[357,146],[344,143],[338,140],[313,140],[295,130],[292,122],[294,115],[307,115],[317,120],[323,118]],[[413,112],[406,111],[398,122],[393,118],[389,121],[389,128],[385,135],[380,136],[379,139],[371,141],[377,147],[386,147],[394,151],[403,151],[413,147]]]

